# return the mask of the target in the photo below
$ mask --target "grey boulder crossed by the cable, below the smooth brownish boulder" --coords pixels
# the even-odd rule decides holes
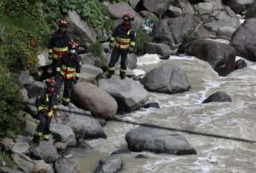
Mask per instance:
[[[91,117],[88,112],[76,107],[58,107],[60,111],[57,112],[57,116],[61,117],[60,123],[71,127],[77,139],[107,137],[102,129],[102,125],[99,124],[96,118]]]

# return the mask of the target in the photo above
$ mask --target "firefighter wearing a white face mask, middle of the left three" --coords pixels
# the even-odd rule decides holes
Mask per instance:
[[[81,57],[78,55],[79,43],[73,41],[69,43],[68,54],[62,55],[58,62],[55,76],[56,93],[60,95],[61,86],[64,82],[64,92],[62,104],[67,106],[70,102],[71,89],[73,84],[77,84],[80,77]]]

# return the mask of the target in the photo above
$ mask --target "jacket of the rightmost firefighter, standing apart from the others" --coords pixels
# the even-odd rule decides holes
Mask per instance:
[[[110,40],[114,43],[114,47],[118,49],[130,49],[130,46],[135,46],[136,33],[134,29],[127,29],[120,24],[116,26]]]

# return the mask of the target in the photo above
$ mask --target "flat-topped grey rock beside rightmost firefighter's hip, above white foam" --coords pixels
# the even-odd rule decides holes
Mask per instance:
[[[169,45],[165,43],[145,43],[145,52],[148,54],[158,54],[161,56],[170,56],[176,52],[173,52]]]

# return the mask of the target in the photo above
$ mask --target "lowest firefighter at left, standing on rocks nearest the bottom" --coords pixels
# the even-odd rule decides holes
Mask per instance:
[[[38,143],[43,137],[44,141],[49,140],[49,124],[53,117],[54,110],[57,108],[57,95],[55,94],[55,80],[48,79],[45,81],[46,89],[43,89],[36,100],[38,108],[38,119],[40,123],[35,132],[33,141]]]

